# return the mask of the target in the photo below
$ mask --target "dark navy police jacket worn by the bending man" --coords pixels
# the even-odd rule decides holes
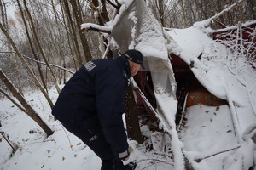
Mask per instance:
[[[113,150],[122,153],[128,149],[122,114],[130,77],[124,56],[92,60],[61,90],[52,114],[64,123],[79,122],[84,129],[94,127],[97,119]]]

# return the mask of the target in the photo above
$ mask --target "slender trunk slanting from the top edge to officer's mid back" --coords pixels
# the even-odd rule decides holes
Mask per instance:
[[[40,52],[40,54],[42,54],[42,57],[43,57],[43,59],[44,59],[44,62],[45,62],[45,64],[47,65],[47,67],[49,68],[49,72],[50,72],[50,74],[51,74],[51,76],[52,76],[52,78],[53,78],[53,82],[54,82],[54,84],[55,84],[55,88],[57,89],[57,92],[60,94],[60,93],[61,93],[61,88],[59,88],[59,86],[58,86],[58,84],[57,84],[57,81],[56,81],[56,78],[55,78],[55,75],[54,75],[54,72],[52,71],[51,67],[49,66],[49,62],[48,62],[48,60],[46,59],[46,57],[45,57],[45,55],[44,55],[42,46],[41,46],[41,44],[40,44],[40,42],[39,42],[38,34],[37,34],[37,32],[36,32],[36,28],[35,28],[34,23],[33,23],[33,20],[32,20],[32,16],[31,16],[31,14],[30,14],[30,12],[29,12],[27,6],[26,6],[26,0],[23,0],[23,3],[24,3],[24,7],[26,8],[26,14],[27,14],[27,16],[28,16],[28,18],[29,18],[29,20],[30,20],[30,22],[31,22],[32,32],[33,32],[34,37],[36,38],[36,42],[37,42],[37,44],[38,44],[39,52]]]

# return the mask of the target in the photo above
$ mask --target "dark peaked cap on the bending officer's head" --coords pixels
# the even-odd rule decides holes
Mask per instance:
[[[128,60],[131,60],[134,63],[142,65],[143,69],[145,69],[143,65],[143,54],[136,49],[129,49],[125,52],[125,57]]]

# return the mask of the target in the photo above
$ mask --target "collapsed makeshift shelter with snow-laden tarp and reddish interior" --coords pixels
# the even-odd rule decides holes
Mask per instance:
[[[240,170],[255,165],[256,22],[214,31],[212,20],[164,29],[143,0],[129,0],[107,26],[82,25],[111,32],[107,37],[115,55],[131,48],[142,52],[146,69],[133,81],[137,111],[147,111],[170,135],[174,169]],[[238,37],[245,26],[252,27],[247,31],[252,43],[242,44],[243,37]],[[221,38],[227,31],[235,44]],[[198,104],[214,107],[196,109]],[[218,115],[219,110],[224,114]]]

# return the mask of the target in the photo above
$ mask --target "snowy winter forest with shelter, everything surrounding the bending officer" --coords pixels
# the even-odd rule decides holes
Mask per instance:
[[[256,169],[255,0],[0,0],[0,13],[1,170],[100,169],[51,109],[82,65],[128,48],[146,65],[125,95],[137,170]]]

